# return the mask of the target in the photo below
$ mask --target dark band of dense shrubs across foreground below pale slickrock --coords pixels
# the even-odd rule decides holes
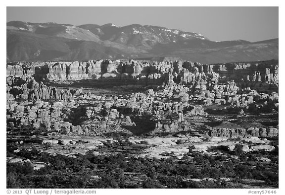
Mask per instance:
[[[129,143],[126,142],[124,147],[129,147],[128,145]],[[133,145],[130,146],[132,147]],[[234,152],[239,153],[239,149],[237,147]],[[21,150],[21,155],[29,156],[28,152],[28,150]],[[94,155],[93,150],[86,152],[85,155],[78,154],[76,158],[64,155],[49,156],[47,153],[39,153],[35,156],[37,151],[31,152],[32,158],[49,162],[51,166],[33,171],[29,164],[8,163],[7,187],[138,188],[138,184],[132,183],[132,178],[124,176],[124,171],[146,176],[148,181],[143,182],[143,188],[227,188],[227,182],[219,180],[221,177],[260,179],[278,183],[278,173],[272,171],[272,167],[268,164],[257,163],[254,167],[242,164],[235,159],[227,159],[225,155],[213,156],[191,152],[179,160],[177,158],[142,158],[129,152],[102,156]],[[276,153],[277,155],[274,155]],[[265,154],[278,160],[278,152],[266,153],[265,151],[247,153],[246,158],[263,157]],[[245,154],[240,152],[239,156],[242,155]],[[189,156],[193,157],[193,162],[190,161]],[[101,179],[90,179],[91,174]],[[185,180],[206,177],[218,180],[216,182]]]

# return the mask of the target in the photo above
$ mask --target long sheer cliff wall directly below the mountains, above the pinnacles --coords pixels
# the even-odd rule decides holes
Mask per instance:
[[[124,81],[134,84],[158,84],[173,82],[190,84],[202,91],[208,87],[205,80],[227,82],[251,88],[269,88],[279,84],[279,66],[276,61],[258,63],[230,63],[205,65],[192,62],[167,61],[160,63],[140,61],[87,61],[87,62],[33,62],[7,65],[7,82],[34,76],[37,81],[108,81],[123,85]],[[170,75],[171,74],[171,75]],[[169,76],[171,78],[169,78]],[[233,87],[233,86],[232,86]]]

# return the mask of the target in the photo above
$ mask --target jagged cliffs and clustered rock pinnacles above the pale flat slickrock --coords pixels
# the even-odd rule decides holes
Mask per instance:
[[[191,131],[193,120],[201,119],[203,124],[215,112],[239,118],[246,117],[245,113],[277,113],[279,109],[279,69],[278,62],[273,61],[204,65],[100,60],[16,63],[6,67],[7,124],[12,129],[32,126],[87,134],[116,130],[169,133]],[[49,86],[52,82],[72,81],[82,81],[78,83],[83,86],[158,87],[118,98]],[[61,103],[67,105],[65,110]],[[82,103],[86,105],[80,106]],[[78,130],[79,124],[82,130]],[[232,138],[278,136],[278,128],[271,126],[226,127],[231,128],[207,127],[200,133]]]

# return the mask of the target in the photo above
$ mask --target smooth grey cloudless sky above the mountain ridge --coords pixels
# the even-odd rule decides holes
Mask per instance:
[[[278,7],[7,7],[6,21],[155,25],[212,41],[278,38]]]

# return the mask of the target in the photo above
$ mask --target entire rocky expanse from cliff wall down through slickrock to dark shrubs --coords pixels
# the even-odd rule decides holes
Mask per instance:
[[[16,156],[36,150],[70,158],[90,151],[156,159],[276,152],[278,87],[275,60],[9,62],[7,144],[17,146],[10,151]],[[118,149],[126,143],[142,149]],[[13,155],[7,163],[29,162],[34,170],[49,166]],[[271,158],[256,162],[270,164]]]

